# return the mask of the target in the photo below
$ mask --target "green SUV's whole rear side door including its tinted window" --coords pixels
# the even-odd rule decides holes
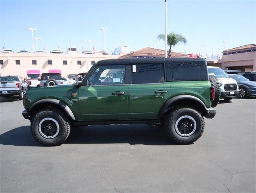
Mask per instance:
[[[133,64],[129,86],[130,119],[156,119],[164,102],[171,96],[165,82],[164,63]]]

